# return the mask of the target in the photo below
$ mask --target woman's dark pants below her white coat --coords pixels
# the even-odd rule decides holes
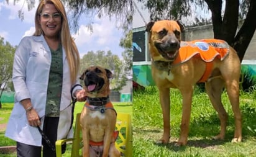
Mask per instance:
[[[55,146],[57,140],[58,117],[45,117],[43,122],[43,133],[48,137],[51,143]],[[56,152],[45,143],[42,139],[43,157],[55,157]],[[26,145],[17,142],[17,157],[40,157],[41,146]]]

